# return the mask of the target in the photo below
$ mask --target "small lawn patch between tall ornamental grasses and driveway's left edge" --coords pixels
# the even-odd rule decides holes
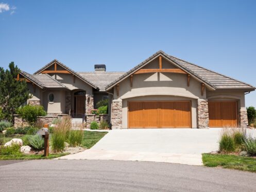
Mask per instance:
[[[83,132],[83,140],[82,147],[90,149],[94,146],[104,135],[108,132],[97,132],[97,131],[84,131]]]

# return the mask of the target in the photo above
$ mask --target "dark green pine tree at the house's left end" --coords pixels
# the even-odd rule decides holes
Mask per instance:
[[[4,119],[13,121],[13,114],[29,98],[29,90],[26,81],[18,81],[20,72],[14,62],[9,64],[9,70],[0,67],[0,108]]]

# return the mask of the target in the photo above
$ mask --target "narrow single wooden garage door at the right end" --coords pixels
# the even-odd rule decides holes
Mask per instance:
[[[236,127],[236,101],[209,101],[209,127]]]

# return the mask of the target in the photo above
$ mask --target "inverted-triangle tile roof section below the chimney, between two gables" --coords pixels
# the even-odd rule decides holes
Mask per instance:
[[[95,84],[99,91],[106,91],[105,88],[108,84],[115,79],[121,77],[125,72],[77,72],[84,79],[88,79]]]

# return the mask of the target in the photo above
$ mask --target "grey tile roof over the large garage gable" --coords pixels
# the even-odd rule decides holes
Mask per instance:
[[[200,67],[198,65],[192,64],[190,62],[178,59],[176,57],[167,55],[164,51],[160,50],[156,54],[153,54],[151,57],[133,67],[130,71],[123,74],[118,79],[111,82],[106,89],[112,88],[113,85],[117,84],[118,82],[122,81],[129,75],[133,74],[134,72],[138,71],[144,65],[146,65],[149,61],[155,59],[158,56],[164,56],[165,59],[173,61],[178,67],[186,71],[187,73],[193,75],[194,77],[198,78],[200,81],[206,83],[213,89],[244,89],[244,90],[255,90],[255,88],[247,83],[242,81],[235,80],[233,78],[227,77],[225,75],[221,75],[219,73],[213,72],[209,69]]]

